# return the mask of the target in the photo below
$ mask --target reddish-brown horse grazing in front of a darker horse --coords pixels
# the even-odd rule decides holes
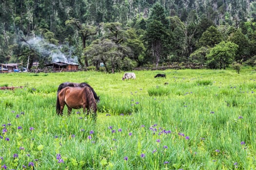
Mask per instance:
[[[57,95],[56,111],[58,115],[63,114],[65,104],[68,107],[68,115],[72,109],[83,108],[86,116],[90,110],[93,111],[93,118],[97,118],[97,103],[90,87],[65,87],[62,88]]]

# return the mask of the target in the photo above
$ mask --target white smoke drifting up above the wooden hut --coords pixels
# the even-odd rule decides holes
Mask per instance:
[[[36,50],[41,54],[42,57],[51,57],[52,62],[73,62],[78,63],[78,57],[72,56],[74,48],[72,47],[66,47],[68,51],[65,53],[61,52],[61,49],[63,48],[62,45],[54,45],[47,41],[45,41],[41,37],[33,37],[29,40],[27,40],[27,43],[31,46],[32,49]],[[24,45],[27,45],[24,43]]]

